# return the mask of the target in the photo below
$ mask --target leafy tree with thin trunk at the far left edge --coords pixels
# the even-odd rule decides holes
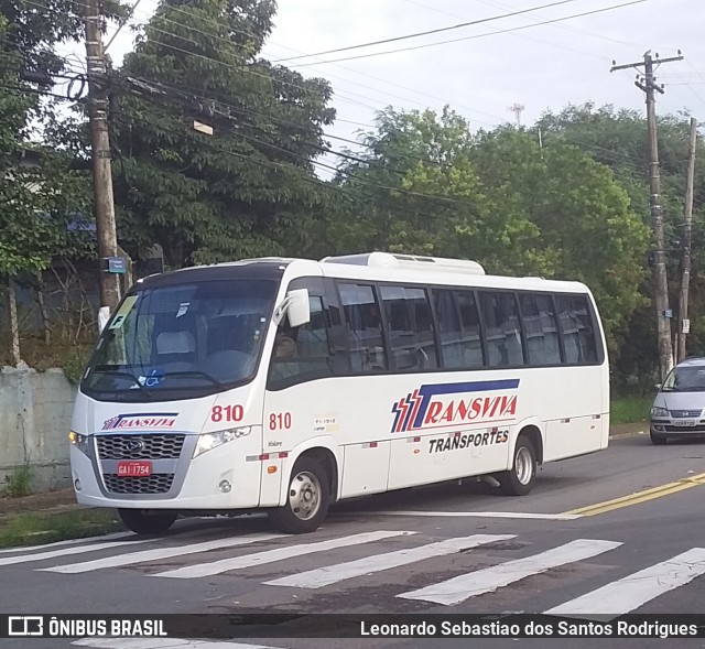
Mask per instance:
[[[53,76],[66,69],[56,43],[77,40],[83,20],[74,3],[6,1],[0,11],[0,277],[8,286],[13,360],[20,360],[14,283],[45,269],[64,252],[72,202],[68,163],[32,142],[36,125],[51,113],[44,95]],[[31,161],[31,163],[28,163]]]

